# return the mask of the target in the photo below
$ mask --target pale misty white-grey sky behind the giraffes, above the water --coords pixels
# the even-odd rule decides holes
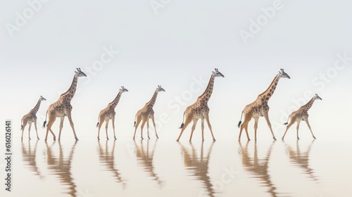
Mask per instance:
[[[151,6],[155,2],[164,4],[156,9]],[[272,7],[273,2],[281,8],[244,42],[239,32],[250,32],[251,20],[263,17],[263,8]],[[15,25],[16,13],[23,15],[30,6],[27,1],[0,3],[0,120],[13,121],[15,137],[20,136],[21,118],[42,95],[47,101],[42,102],[37,116],[39,136],[44,139],[41,126],[46,110],[70,87],[74,71],[80,67],[89,77],[79,79],[79,91],[71,104],[81,140],[96,137],[99,111],[115,98],[120,86],[129,92],[122,94],[115,109],[116,132],[118,138],[132,139],[134,115],[158,84],[166,90],[158,95],[154,106],[158,134],[161,139],[176,139],[184,109],[206,87],[194,79],[208,82],[214,68],[225,75],[215,80],[208,103],[218,141],[237,140],[241,110],[268,88],[280,68],[291,80],[280,80],[269,101],[277,138],[284,132],[281,124],[289,109],[308,101],[303,99],[306,92],[318,93],[323,99],[310,109],[315,136],[351,138],[352,61],[345,65],[340,62],[344,65],[340,70],[334,68],[338,56],[352,58],[351,3],[51,0],[41,6],[23,27],[9,32],[8,25]],[[94,70],[94,61],[99,61],[104,49],[118,54],[99,71]],[[327,80],[322,80],[323,75]],[[177,97],[182,103],[175,101]],[[56,135],[58,122],[53,126]],[[252,125],[249,132],[253,139]],[[190,127],[181,141],[188,140],[189,133]],[[109,134],[112,138],[112,127]],[[208,127],[205,134],[210,141]],[[271,140],[263,118],[258,135],[259,140]],[[35,139],[34,127],[31,136]],[[151,136],[155,138],[153,129]],[[200,137],[199,122],[194,138]],[[287,138],[296,139],[295,126]],[[301,138],[311,138],[304,122]],[[67,118],[63,139],[74,140]]]

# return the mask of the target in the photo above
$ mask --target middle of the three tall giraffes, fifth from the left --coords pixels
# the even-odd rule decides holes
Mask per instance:
[[[215,72],[213,71],[213,73],[211,74],[208,86],[206,87],[206,90],[204,91],[204,93],[197,98],[195,103],[193,103],[191,106],[188,106],[186,110],[184,110],[183,121],[180,127],[181,129],[180,136],[178,136],[176,141],[180,140],[180,137],[184,132],[184,129],[186,129],[189,123],[193,121],[193,126],[191,128],[191,136],[189,137],[189,141],[191,141],[194,129],[196,128],[196,123],[198,122],[199,118],[201,118],[202,141],[204,141],[204,119],[208,123],[211,136],[213,136],[213,141],[215,141],[215,137],[213,135],[213,129],[211,128],[210,121],[209,121],[209,108],[208,108],[208,101],[211,94],[213,93],[215,77],[225,77],[225,76],[222,75],[221,72],[219,72],[218,68],[215,68]],[[186,117],[185,121],[184,121],[184,117]]]

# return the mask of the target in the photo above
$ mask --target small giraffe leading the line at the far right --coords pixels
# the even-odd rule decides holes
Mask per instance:
[[[289,129],[289,127],[294,125],[294,122],[297,122],[297,139],[299,139],[299,137],[298,137],[299,123],[301,121],[306,121],[308,128],[310,130],[310,133],[312,134],[313,138],[315,139],[315,136],[312,132],[312,129],[310,128],[309,121],[308,121],[308,116],[309,116],[308,110],[313,106],[313,103],[315,100],[322,100],[322,98],[320,98],[320,96],[318,96],[318,94],[315,94],[313,96],[313,98],[310,99],[310,101],[306,105],[301,106],[301,108],[299,108],[298,110],[291,113],[291,115],[289,115],[289,117],[291,117],[291,122],[287,121],[284,123],[284,125],[287,125],[284,136],[286,135],[286,132]],[[282,136],[282,140],[284,140],[284,136]]]

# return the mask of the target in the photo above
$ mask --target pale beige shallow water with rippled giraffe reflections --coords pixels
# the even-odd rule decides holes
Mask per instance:
[[[334,141],[332,143],[332,141]],[[1,196],[352,196],[349,139],[14,140]],[[4,166],[4,161],[1,161]],[[4,172],[1,172],[1,179]],[[4,186],[3,186],[4,188]]]

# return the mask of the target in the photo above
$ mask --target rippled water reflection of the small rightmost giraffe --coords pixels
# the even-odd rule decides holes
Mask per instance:
[[[317,177],[315,177],[314,170],[309,167],[309,153],[315,140],[313,139],[313,141],[308,145],[308,148],[304,152],[299,147],[298,141],[299,140],[296,141],[296,149],[292,148],[292,146],[289,146],[289,144],[284,142],[285,146],[287,147],[289,161],[295,166],[300,167],[304,171],[304,174],[309,175],[310,179],[318,181]]]

